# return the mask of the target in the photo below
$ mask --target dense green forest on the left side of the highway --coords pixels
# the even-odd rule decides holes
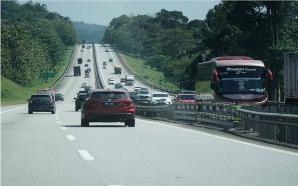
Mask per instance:
[[[41,72],[54,71],[77,39],[70,18],[46,5],[1,0],[2,76],[32,86]]]

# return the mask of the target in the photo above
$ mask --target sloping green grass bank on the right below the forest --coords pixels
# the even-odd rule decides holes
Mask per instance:
[[[119,52],[123,62],[138,76],[142,77],[149,83],[154,84],[155,86],[159,86],[165,89],[170,89],[173,91],[179,91],[180,88],[169,81],[164,77],[163,73],[152,69],[150,66],[145,65],[145,61],[137,58],[125,55]],[[159,79],[162,80],[162,84],[159,84]]]

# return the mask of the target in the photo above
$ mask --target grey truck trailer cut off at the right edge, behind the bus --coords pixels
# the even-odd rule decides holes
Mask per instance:
[[[298,105],[298,52],[284,56],[285,103]]]

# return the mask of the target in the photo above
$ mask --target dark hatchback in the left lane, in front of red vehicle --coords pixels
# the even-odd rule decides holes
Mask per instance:
[[[56,113],[55,100],[49,94],[33,94],[28,101],[28,114],[33,114],[33,112]]]

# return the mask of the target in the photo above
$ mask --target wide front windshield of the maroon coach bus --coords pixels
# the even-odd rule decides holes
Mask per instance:
[[[221,66],[219,72],[219,89],[221,93],[266,92],[262,79],[262,66]]]

